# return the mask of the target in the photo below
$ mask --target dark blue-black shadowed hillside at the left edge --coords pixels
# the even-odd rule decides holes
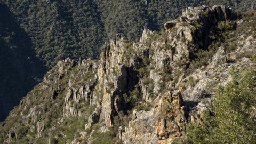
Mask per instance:
[[[0,3],[0,121],[46,73],[32,42],[5,4]]]

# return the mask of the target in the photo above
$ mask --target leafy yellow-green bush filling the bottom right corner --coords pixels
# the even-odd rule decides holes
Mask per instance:
[[[187,130],[193,143],[255,143],[256,71],[242,71],[213,98],[210,114],[205,112]]]

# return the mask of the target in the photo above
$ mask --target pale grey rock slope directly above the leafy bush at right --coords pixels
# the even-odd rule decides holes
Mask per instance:
[[[211,103],[211,95],[214,95],[215,89],[220,85],[226,85],[231,81],[231,71],[240,71],[247,67],[254,66],[248,58],[241,58],[237,62],[227,61],[227,53],[224,47],[220,47],[212,57],[211,63],[207,67],[197,69],[188,78],[183,79],[186,83],[180,83],[180,89],[183,89],[183,99],[187,106],[191,108],[189,119],[194,121]],[[189,85],[188,79],[193,79],[195,84]],[[184,85],[185,84],[185,85]]]

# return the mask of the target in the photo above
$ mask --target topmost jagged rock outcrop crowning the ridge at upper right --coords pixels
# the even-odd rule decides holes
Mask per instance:
[[[236,14],[229,7],[215,5],[212,8],[200,6],[182,10],[179,20],[165,23],[165,29],[172,30],[169,38],[171,46],[175,47],[174,61],[189,62],[199,47],[206,47],[209,44],[207,31],[217,24],[218,21],[233,20]],[[176,35],[173,29],[177,29]]]

